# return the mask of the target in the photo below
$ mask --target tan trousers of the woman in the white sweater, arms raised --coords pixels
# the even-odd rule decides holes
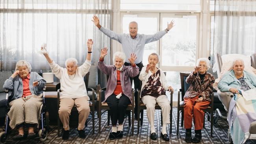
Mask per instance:
[[[69,130],[69,116],[71,113],[71,109],[76,105],[76,109],[78,110],[78,130],[84,128],[85,121],[87,120],[90,107],[89,101],[87,97],[83,96],[81,98],[61,98],[59,104],[59,119],[63,124],[63,128],[65,131]]]

